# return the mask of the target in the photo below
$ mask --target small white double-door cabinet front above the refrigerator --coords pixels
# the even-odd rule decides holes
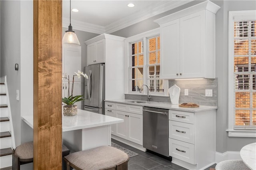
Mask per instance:
[[[105,39],[87,45],[87,65],[105,63]]]

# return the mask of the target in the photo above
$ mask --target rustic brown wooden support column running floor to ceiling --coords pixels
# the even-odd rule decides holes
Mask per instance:
[[[61,170],[62,1],[33,3],[34,170]]]

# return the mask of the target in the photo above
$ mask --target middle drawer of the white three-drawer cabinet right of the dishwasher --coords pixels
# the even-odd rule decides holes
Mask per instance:
[[[169,121],[169,138],[194,144],[194,125]]]

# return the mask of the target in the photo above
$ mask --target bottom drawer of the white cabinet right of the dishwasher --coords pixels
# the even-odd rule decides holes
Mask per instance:
[[[169,138],[169,155],[190,164],[195,164],[194,144]]]

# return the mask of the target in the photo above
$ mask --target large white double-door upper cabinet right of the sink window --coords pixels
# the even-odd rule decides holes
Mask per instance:
[[[160,79],[215,78],[215,14],[205,1],[158,20]]]

